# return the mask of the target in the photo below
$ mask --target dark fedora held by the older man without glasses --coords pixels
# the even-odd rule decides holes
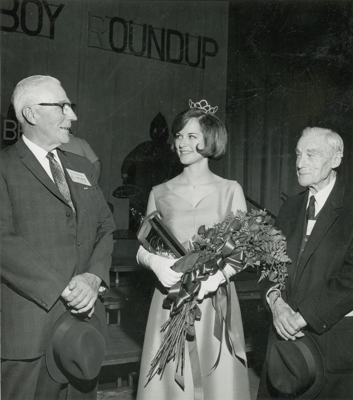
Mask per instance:
[[[273,335],[266,360],[268,377],[283,398],[310,400],[320,393],[325,377],[324,361],[307,331],[296,340],[282,340]]]

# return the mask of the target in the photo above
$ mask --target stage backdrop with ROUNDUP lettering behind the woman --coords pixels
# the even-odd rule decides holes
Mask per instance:
[[[145,193],[158,183],[148,178],[156,174],[153,151],[172,142],[171,121],[189,98],[218,105],[225,119],[228,1],[2,0],[0,23],[1,146],[19,134],[10,107],[15,84],[35,74],[58,78],[77,104],[73,134],[102,162],[99,184],[118,228],[127,228],[133,200],[113,191],[128,184]],[[141,157],[149,170],[138,165]],[[221,164],[214,165],[217,173]]]

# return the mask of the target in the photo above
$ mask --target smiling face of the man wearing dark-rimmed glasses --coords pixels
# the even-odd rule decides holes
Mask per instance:
[[[37,104],[70,101],[62,86],[53,81],[38,85],[33,92],[31,102]],[[34,116],[32,120],[33,133],[28,137],[30,140],[47,151],[70,141],[68,133],[71,121],[77,119],[71,108],[68,109],[66,115],[63,114],[61,106],[31,105],[30,108]]]

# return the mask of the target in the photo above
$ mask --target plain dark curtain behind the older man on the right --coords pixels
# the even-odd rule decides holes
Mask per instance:
[[[225,173],[277,214],[303,190],[295,146],[306,126],[336,130],[353,184],[352,1],[230,1]]]

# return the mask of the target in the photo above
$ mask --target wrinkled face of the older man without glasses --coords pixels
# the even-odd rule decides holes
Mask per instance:
[[[296,153],[298,181],[302,186],[309,186],[318,192],[335,178],[336,172],[332,168],[340,164],[342,153],[333,152],[322,135],[313,133],[302,136]]]

